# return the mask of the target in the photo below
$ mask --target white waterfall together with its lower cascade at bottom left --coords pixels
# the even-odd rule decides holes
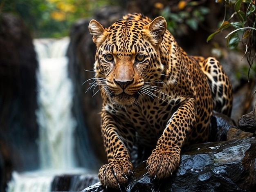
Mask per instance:
[[[65,57],[68,44],[69,38],[34,40],[39,62],[36,116],[40,170],[13,172],[7,192],[49,192],[55,174],[76,170],[73,154],[76,121],[71,113],[73,89]]]

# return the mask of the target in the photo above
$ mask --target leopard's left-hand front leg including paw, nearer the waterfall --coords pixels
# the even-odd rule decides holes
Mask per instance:
[[[108,156],[108,164],[102,165],[99,170],[99,180],[101,185],[106,188],[120,188],[128,182],[128,177],[132,171],[130,162],[130,150],[134,142],[135,133],[132,127],[125,127],[120,122],[114,120],[114,117],[106,111],[101,114],[101,132],[105,151]],[[126,129],[129,132],[129,138],[120,131]]]

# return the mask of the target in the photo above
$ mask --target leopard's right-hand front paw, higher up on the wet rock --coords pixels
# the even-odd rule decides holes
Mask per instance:
[[[165,179],[173,174],[180,163],[178,150],[155,149],[147,160],[147,171],[152,179]]]

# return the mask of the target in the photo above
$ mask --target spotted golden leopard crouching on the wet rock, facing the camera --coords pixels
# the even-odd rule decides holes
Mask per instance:
[[[145,169],[153,181],[171,177],[184,146],[209,140],[213,111],[231,115],[227,74],[216,58],[187,54],[162,16],[128,13],[110,27],[94,19],[88,27],[97,47],[90,88],[101,93],[108,159],[101,185],[127,185],[135,142],[152,147]]]

